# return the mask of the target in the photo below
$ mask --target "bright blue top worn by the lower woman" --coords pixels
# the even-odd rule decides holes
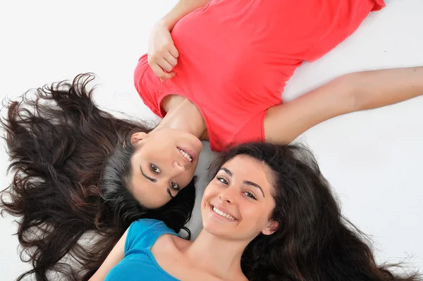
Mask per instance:
[[[104,281],[179,281],[159,266],[152,246],[161,235],[179,236],[161,220],[142,218],[132,223],[125,241],[125,256],[109,271]]]

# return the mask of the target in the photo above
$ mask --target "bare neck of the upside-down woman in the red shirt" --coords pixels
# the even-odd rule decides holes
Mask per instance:
[[[170,128],[189,132],[199,139],[207,140],[203,139],[203,136],[207,135],[207,126],[197,106],[183,96],[174,96],[174,98],[177,101],[166,103],[164,106],[166,116],[153,131]]]

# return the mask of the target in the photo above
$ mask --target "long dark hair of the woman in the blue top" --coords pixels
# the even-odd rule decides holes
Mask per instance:
[[[279,223],[273,235],[260,234],[245,249],[241,264],[248,280],[422,280],[376,264],[364,234],[341,215],[329,183],[305,146],[243,144],[212,163],[210,175],[241,154],[273,171],[276,207],[271,220]]]

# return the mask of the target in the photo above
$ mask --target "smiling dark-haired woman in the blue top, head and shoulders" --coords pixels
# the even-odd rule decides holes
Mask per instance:
[[[195,242],[137,220],[90,280],[422,280],[376,265],[303,147],[244,144],[210,175]]]

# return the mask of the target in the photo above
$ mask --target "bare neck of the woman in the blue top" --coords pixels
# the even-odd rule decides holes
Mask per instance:
[[[186,249],[185,255],[195,267],[221,280],[240,280],[241,276],[245,280],[241,256],[247,244],[245,241],[222,239],[202,230],[195,242]]]

